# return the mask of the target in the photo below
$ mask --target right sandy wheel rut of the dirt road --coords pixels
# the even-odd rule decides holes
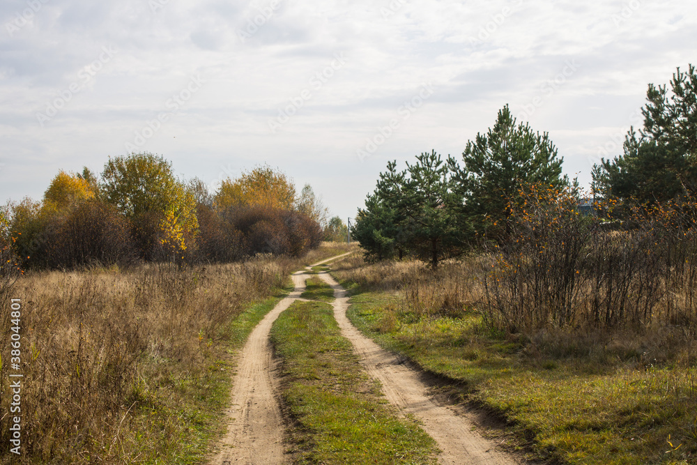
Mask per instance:
[[[334,316],[342,334],[351,341],[368,374],[381,382],[385,397],[404,413],[411,413],[422,422],[422,428],[438,443],[442,464],[509,465],[519,464],[496,445],[475,431],[475,423],[449,406],[436,402],[428,394],[419,373],[365,337],[348,321],[346,291],[328,273],[320,277],[334,289]]]

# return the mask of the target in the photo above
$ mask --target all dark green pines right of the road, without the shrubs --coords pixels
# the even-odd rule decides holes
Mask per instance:
[[[687,73],[677,68],[670,89],[650,84],[642,112],[644,127],[629,130],[625,153],[592,170],[592,189],[585,195],[595,199],[602,220],[626,220],[631,206],[646,211],[691,198],[697,188],[694,66]],[[401,171],[397,162],[388,162],[358,211],[352,236],[371,259],[409,254],[432,268],[485,242],[514,242],[513,213],[529,201],[526,192],[533,186],[568,192],[576,206],[583,202],[576,180],[562,175],[562,162],[549,133],[516,121],[506,105],[492,128],[467,142],[459,159],[421,153]]]

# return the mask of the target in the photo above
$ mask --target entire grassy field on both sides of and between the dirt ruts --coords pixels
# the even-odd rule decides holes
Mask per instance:
[[[233,355],[291,290],[291,272],[346,250],[355,253],[308,275],[297,295],[313,301],[273,325],[293,462],[430,463],[436,454],[358,369],[332,317],[333,291],[314,274],[330,269],[351,295],[351,322],[433,375],[453,402],[487,412],[500,424],[491,438],[508,452],[550,464],[694,463],[694,326],[657,315],[642,327],[516,332],[487,305],[491,260],[482,254],[434,271],[420,261],[367,263],[337,244],[303,259],[20,277],[5,305],[22,303],[22,364],[10,363],[8,345],[0,372],[3,392],[9,374],[24,375],[18,463],[206,461],[226,430]],[[13,324],[7,312],[3,340]],[[2,402],[10,408],[10,397]],[[8,443],[10,418],[1,422]],[[3,452],[3,463],[12,459]]]

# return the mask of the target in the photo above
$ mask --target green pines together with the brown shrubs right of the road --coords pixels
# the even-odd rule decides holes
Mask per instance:
[[[353,237],[370,259],[408,254],[434,269],[475,252],[462,266],[485,321],[508,333],[694,326],[695,68],[678,68],[670,89],[650,85],[643,116],[624,153],[595,165],[586,195],[562,176],[549,135],[504,107],[460,160],[431,151],[402,171],[388,163]]]

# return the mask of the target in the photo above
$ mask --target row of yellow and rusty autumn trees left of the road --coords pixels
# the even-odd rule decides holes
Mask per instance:
[[[0,211],[4,250],[23,268],[298,255],[343,234],[337,220],[309,185],[296,195],[291,179],[266,165],[209,192],[152,153],[109,158],[100,176],[60,171],[41,201],[10,201]]]

